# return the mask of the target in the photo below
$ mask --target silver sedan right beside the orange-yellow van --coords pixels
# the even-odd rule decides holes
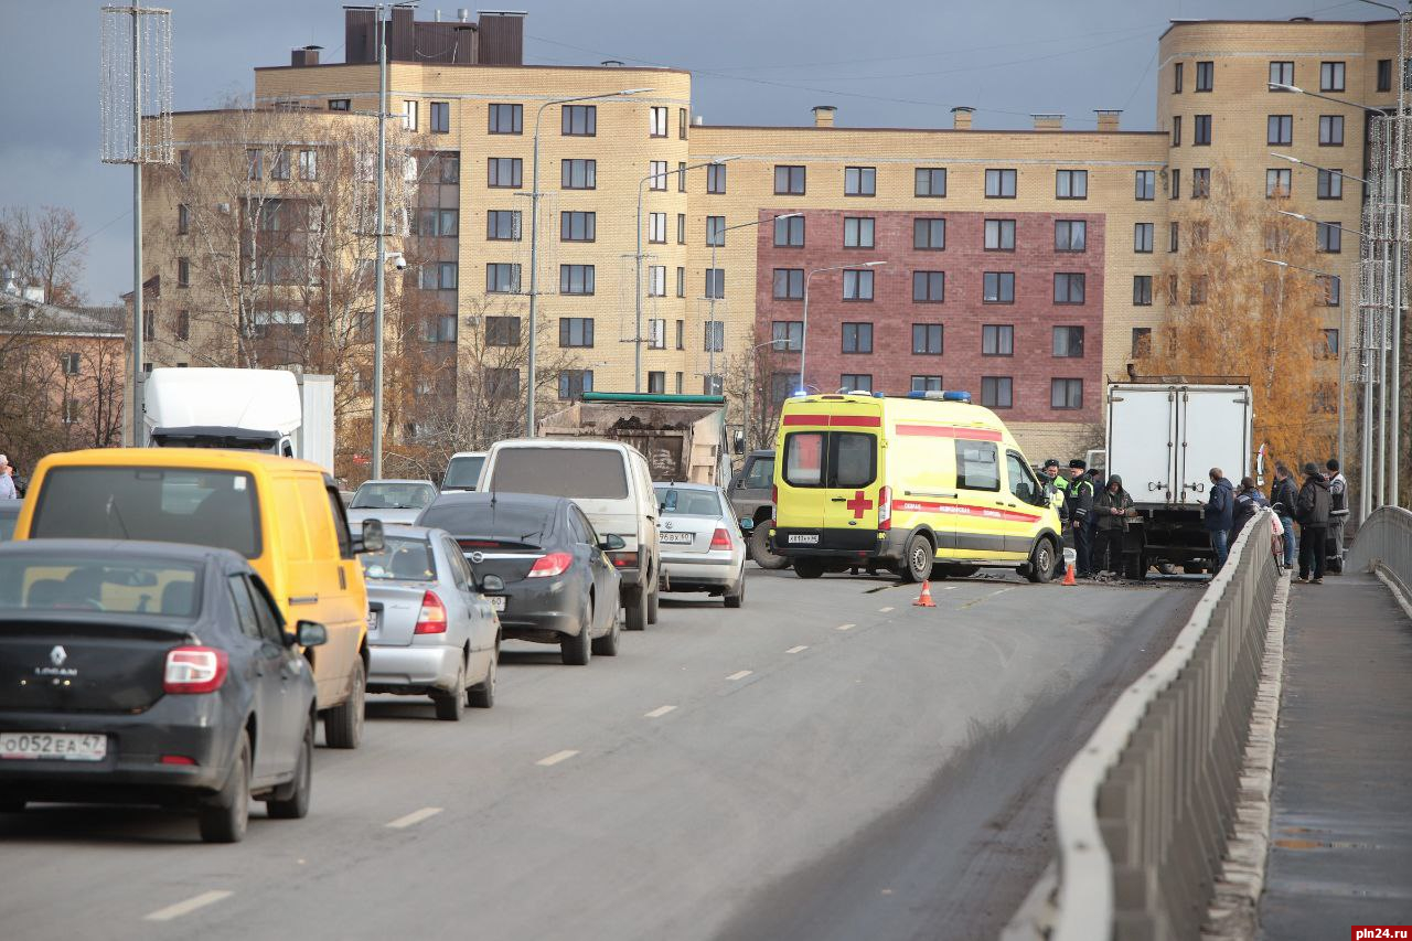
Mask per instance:
[[[496,702],[500,619],[446,530],[388,526],[367,576],[369,692],[429,695],[456,722]],[[489,579],[487,579],[489,581]]]

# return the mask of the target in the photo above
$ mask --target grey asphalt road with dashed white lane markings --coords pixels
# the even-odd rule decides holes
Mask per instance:
[[[380,697],[304,821],[0,815],[6,938],[986,938],[1049,860],[1059,767],[1192,584],[751,571],[623,653],[511,644],[498,704]],[[257,805],[258,808],[260,805]]]

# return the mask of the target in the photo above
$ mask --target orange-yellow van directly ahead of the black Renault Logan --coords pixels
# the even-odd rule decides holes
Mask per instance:
[[[305,651],[329,746],[357,747],[367,682],[367,589],[356,552],[381,524],[349,533],[323,468],[209,448],[109,448],[40,461],[14,537],[192,543],[234,550],[270,586],[285,620],[328,627]]]

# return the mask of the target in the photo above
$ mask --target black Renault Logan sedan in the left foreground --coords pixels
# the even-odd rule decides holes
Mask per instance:
[[[229,550],[112,540],[0,545],[0,812],[27,801],[195,808],[237,842],[251,797],[309,810],[313,675]]]

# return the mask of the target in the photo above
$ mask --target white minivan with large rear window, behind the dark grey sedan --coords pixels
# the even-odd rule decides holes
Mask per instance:
[[[607,555],[623,576],[627,629],[657,623],[658,510],[642,452],[602,438],[497,441],[486,455],[480,490],[565,496],[599,535],[621,535],[624,547]]]

